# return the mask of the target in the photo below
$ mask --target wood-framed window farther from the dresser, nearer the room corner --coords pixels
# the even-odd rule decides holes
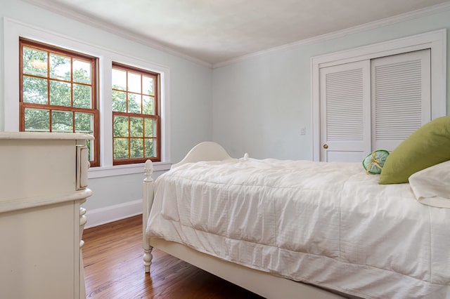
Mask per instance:
[[[113,62],[113,165],[161,161],[159,77]]]

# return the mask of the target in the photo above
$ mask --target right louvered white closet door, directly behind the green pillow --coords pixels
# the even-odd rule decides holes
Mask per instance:
[[[373,150],[394,150],[431,120],[430,71],[430,49],[371,61]]]

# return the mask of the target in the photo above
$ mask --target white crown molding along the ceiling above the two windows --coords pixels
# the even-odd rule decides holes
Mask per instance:
[[[102,22],[100,20],[94,20],[93,18],[89,17],[89,15],[84,15],[84,14],[76,12],[76,11],[70,11],[70,9],[66,8],[65,6],[62,6],[60,4],[55,4],[51,0],[23,0],[23,1],[25,1],[29,4],[32,4],[34,6],[44,8],[46,11],[58,13],[58,15],[63,15],[65,17],[71,18],[73,20],[82,22],[86,25],[91,25],[92,27],[102,29],[105,32],[110,32],[117,36],[121,36],[124,39],[136,41],[139,44],[143,44],[144,46],[148,46],[150,48],[155,48],[156,50],[165,52],[170,55],[177,56],[179,58],[186,59],[191,62],[198,63],[199,65],[203,65],[205,67],[210,67],[210,68],[212,67],[212,64],[210,62],[206,62],[204,60],[200,60],[198,58],[192,57],[191,55],[187,55],[180,51],[176,51],[173,48],[170,48],[169,46],[165,46],[161,43],[158,43],[158,41],[154,41],[154,40],[148,38],[147,36],[129,32],[126,29],[122,29],[118,26],[111,25],[110,23]]]

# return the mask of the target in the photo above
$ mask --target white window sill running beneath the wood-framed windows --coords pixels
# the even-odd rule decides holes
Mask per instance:
[[[168,171],[172,166],[172,162],[155,162],[153,163],[153,171]],[[89,168],[88,178],[105,178],[114,175],[127,175],[133,173],[143,173],[143,163],[106,166],[106,167],[94,167]]]

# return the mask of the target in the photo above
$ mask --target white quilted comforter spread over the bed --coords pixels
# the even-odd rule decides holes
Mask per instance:
[[[155,185],[148,237],[363,298],[450,297],[450,209],[361,164],[198,162]]]

